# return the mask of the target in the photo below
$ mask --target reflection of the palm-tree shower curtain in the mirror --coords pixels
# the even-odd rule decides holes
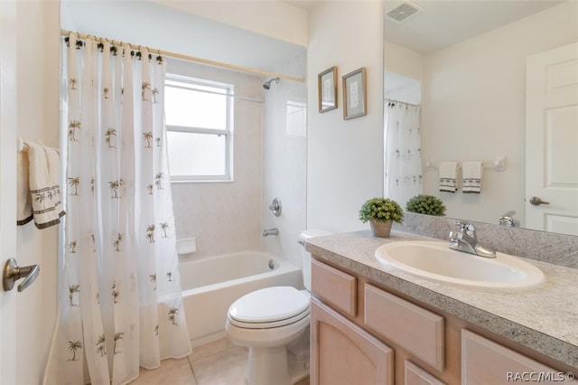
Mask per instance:
[[[423,193],[420,106],[386,99],[384,196],[403,208]]]

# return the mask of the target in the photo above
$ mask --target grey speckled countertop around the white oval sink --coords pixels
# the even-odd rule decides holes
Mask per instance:
[[[375,258],[380,245],[411,239],[439,241],[396,230],[388,239],[374,238],[369,231],[356,231],[308,239],[306,249],[316,258],[578,370],[578,269],[526,258],[544,272],[545,282],[534,289],[505,292],[424,280],[382,265]]]

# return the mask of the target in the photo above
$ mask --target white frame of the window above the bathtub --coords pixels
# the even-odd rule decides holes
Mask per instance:
[[[182,86],[180,84],[167,84],[167,81],[189,84],[191,87]],[[195,86],[210,87],[223,89],[225,92],[214,92],[206,89],[195,89]],[[224,129],[206,128],[206,127],[190,127],[190,126],[175,126],[165,124],[167,135],[171,132],[201,134],[201,135],[215,135],[225,136],[225,173],[213,175],[170,175],[171,183],[211,183],[211,182],[233,182],[233,108],[234,108],[234,85],[223,83],[214,80],[205,80],[194,78],[178,73],[168,73],[165,76],[164,87],[188,89],[196,92],[203,92],[208,94],[221,95],[225,97],[225,110],[227,117],[225,119]],[[166,102],[166,101],[165,101]],[[170,152],[167,144],[167,152]],[[170,167],[171,164],[169,164]],[[170,172],[170,168],[169,168]]]

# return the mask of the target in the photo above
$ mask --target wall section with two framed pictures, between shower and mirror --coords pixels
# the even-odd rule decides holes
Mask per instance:
[[[307,227],[368,228],[361,204],[383,192],[383,5],[320,3],[309,14]],[[339,108],[318,112],[317,75],[337,66]],[[341,76],[365,67],[368,115],[343,119]]]

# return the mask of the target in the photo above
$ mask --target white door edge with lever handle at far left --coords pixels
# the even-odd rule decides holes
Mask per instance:
[[[16,2],[0,1],[0,268],[16,256]],[[0,287],[0,383],[16,383],[16,290]]]

